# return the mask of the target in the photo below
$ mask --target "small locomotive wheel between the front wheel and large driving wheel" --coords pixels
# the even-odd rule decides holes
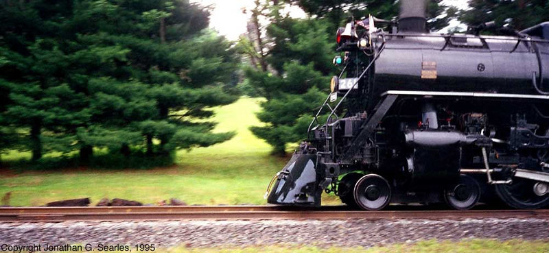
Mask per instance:
[[[474,178],[460,175],[456,184],[452,184],[444,191],[445,202],[457,210],[469,210],[480,199],[480,186]]]

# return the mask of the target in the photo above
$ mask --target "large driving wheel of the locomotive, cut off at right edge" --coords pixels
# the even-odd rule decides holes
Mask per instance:
[[[495,192],[503,202],[513,208],[537,209],[549,204],[549,193],[540,193],[539,186],[544,186],[544,183],[525,178],[513,178],[511,184],[495,184]]]

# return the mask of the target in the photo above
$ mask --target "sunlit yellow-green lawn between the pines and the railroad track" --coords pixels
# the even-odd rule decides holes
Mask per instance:
[[[241,98],[215,108],[215,131],[236,131],[230,141],[179,151],[172,167],[140,170],[64,169],[56,172],[0,172],[0,197],[12,206],[39,206],[56,200],[124,198],[155,204],[176,197],[187,204],[265,204],[263,194],[288,158],[270,156],[270,146],[248,130],[260,125],[259,99]],[[3,159],[25,158],[11,153]],[[2,204],[2,203],[0,203]]]

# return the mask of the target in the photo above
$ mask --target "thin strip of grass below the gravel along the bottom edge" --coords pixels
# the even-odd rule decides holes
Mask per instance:
[[[170,248],[157,250],[158,253],[194,253],[194,252],[240,252],[240,253],[257,253],[257,252],[272,252],[272,253],[329,253],[329,252],[344,252],[344,253],[547,253],[549,252],[548,241],[496,241],[487,239],[474,239],[463,241],[420,241],[418,243],[399,243],[387,245],[384,247],[372,248],[320,248],[308,245],[269,245],[255,246],[246,248]]]

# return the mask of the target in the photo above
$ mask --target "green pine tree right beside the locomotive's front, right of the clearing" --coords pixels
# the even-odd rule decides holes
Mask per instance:
[[[271,46],[259,59],[269,69],[248,67],[244,72],[248,84],[267,98],[257,117],[268,124],[251,130],[272,145],[275,154],[283,154],[285,143],[305,138],[309,115],[325,98],[322,91],[334,67],[325,21],[271,15],[264,38]]]

